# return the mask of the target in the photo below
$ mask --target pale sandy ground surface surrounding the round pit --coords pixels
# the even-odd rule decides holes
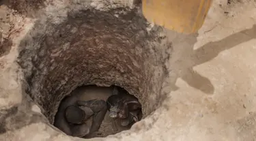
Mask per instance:
[[[68,2],[56,1],[51,7],[56,5],[61,8]],[[91,140],[254,140],[255,5],[254,1],[214,1],[198,34],[166,31],[173,42],[171,59],[166,63],[171,66],[167,69],[172,79],[162,87],[162,92],[167,92],[162,106],[129,131]],[[46,7],[48,16],[53,16],[57,9]],[[12,10],[1,6],[0,12],[6,15]],[[61,10],[58,13],[66,15]],[[25,93],[22,87],[26,86],[20,81],[23,72],[15,62],[18,45],[35,20],[23,15],[12,15],[5,20],[11,26],[2,22],[1,28],[5,28],[1,30],[3,37],[12,39],[12,49],[1,57],[0,119],[7,119],[5,126],[9,128],[0,129],[0,140],[82,140],[65,136],[45,124],[40,108],[21,93]],[[61,16],[53,22],[59,20]],[[29,122],[10,129],[14,119],[7,117],[14,113],[23,114],[16,121],[23,117]],[[33,116],[38,118],[29,119]]]

